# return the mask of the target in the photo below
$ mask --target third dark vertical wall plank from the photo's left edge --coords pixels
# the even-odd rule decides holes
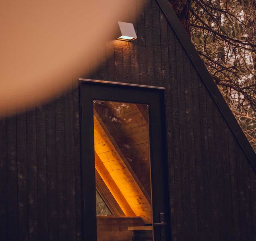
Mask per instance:
[[[17,125],[17,185],[18,240],[28,240],[28,171],[26,141],[26,106],[16,116]]]

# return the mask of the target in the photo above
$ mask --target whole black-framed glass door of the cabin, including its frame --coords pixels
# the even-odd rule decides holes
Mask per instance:
[[[83,240],[168,240],[164,88],[81,80]]]

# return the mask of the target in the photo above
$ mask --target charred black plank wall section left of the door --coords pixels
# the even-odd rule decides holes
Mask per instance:
[[[81,240],[75,79],[74,91],[0,120],[0,240]]]

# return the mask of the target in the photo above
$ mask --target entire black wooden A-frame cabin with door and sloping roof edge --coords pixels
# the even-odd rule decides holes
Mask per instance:
[[[22,114],[0,120],[1,240],[97,240],[96,223],[102,241],[256,240],[256,154],[168,1],[136,4],[131,0],[120,19],[133,23],[136,40],[99,46],[104,61],[90,75],[73,72],[71,91],[56,91],[54,101],[36,106],[35,100],[34,110],[26,112],[24,106]],[[88,61],[98,60],[95,53]],[[102,91],[94,107],[79,88],[80,93]],[[116,103],[111,98],[121,97],[115,92],[104,97],[111,88],[125,99],[119,114],[111,112]],[[160,108],[154,107],[157,98]],[[110,106],[107,113],[117,129],[108,126],[102,105]],[[136,125],[121,125],[127,118]],[[161,153],[154,151],[159,144]],[[140,145],[144,149],[136,148]],[[163,177],[156,175],[158,164]],[[158,184],[152,182],[151,189],[150,169]],[[158,188],[160,194],[164,190],[163,202],[156,198]],[[90,216],[96,214],[95,190],[98,218]],[[91,191],[93,197],[85,195]],[[163,206],[164,219],[157,220]],[[136,236],[135,227],[145,227],[144,236]]]

